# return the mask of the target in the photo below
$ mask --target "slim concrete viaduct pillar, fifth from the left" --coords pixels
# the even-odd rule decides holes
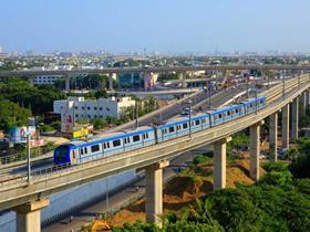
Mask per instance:
[[[269,116],[269,159],[278,161],[278,113]]]

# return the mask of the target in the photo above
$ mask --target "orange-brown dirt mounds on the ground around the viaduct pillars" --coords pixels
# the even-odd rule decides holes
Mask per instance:
[[[178,212],[183,207],[195,203],[213,190],[213,167],[210,164],[196,168],[196,178],[186,175],[178,175],[173,178],[164,188],[163,203],[164,213]],[[227,188],[236,188],[237,183],[252,184],[249,178],[249,160],[238,160],[227,166]],[[260,168],[260,176],[265,170]],[[107,220],[112,226],[122,226],[125,222],[134,223],[137,220],[145,222],[145,199],[138,199],[130,207],[121,210]]]

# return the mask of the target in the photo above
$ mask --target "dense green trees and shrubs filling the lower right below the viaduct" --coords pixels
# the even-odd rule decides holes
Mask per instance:
[[[308,232],[310,228],[310,139],[303,138],[297,143],[297,156],[291,164],[265,164],[262,168],[266,173],[255,184],[237,183],[236,188],[210,191],[197,197],[193,204],[179,211],[166,212],[162,217],[163,229],[136,221],[133,224],[125,223],[123,226],[115,226],[113,231]],[[182,171],[180,176],[197,182],[202,178],[202,170],[206,170],[205,167],[210,157],[211,154],[197,156],[192,168]],[[204,173],[207,176],[206,172]]]

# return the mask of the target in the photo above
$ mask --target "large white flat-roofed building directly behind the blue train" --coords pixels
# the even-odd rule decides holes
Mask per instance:
[[[135,101],[131,97],[111,97],[99,99],[85,99],[84,97],[69,97],[68,99],[54,101],[54,113],[61,117],[68,117],[71,112],[74,122],[79,119],[105,118],[106,116],[120,118],[124,110],[134,106]]]

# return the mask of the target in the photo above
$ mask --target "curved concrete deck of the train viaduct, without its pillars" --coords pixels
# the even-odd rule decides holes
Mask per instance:
[[[73,166],[69,169],[64,169],[55,173],[48,173],[48,175],[42,175],[37,177],[34,176],[33,183],[29,187],[25,187],[24,183],[18,181],[12,181],[11,184],[9,186],[2,183],[0,186],[1,187],[0,192],[2,192],[3,194],[1,194],[0,197],[0,205],[3,209],[2,204],[14,196],[14,194],[9,194],[7,196],[8,198],[6,198],[4,197],[6,192],[11,191],[12,189],[20,189],[21,186],[23,186],[22,192],[25,193],[27,196],[29,194],[31,196],[33,193],[35,196],[32,186],[35,186],[35,191],[42,191],[42,190],[44,191],[44,189],[46,189],[49,193],[56,192],[59,190],[54,190],[54,188],[65,189],[68,188],[65,187],[66,184],[76,186],[76,184],[87,182],[92,179],[97,179],[101,177],[108,176],[110,173],[113,175],[124,170],[142,168],[147,165],[156,162],[155,160],[159,161],[173,157],[175,155],[178,155],[180,152],[184,152],[186,150],[190,150],[193,148],[214,143],[220,138],[226,138],[227,136],[236,131],[249,127],[256,122],[261,122],[265,117],[269,116],[270,114],[280,110],[285,105],[290,103],[292,98],[296,98],[299,95],[299,93],[302,93],[308,87],[309,84],[307,86],[303,86],[300,91],[291,93],[291,95],[286,101],[277,102],[276,104],[273,103],[267,108],[258,112],[258,114],[252,114],[242,118],[238,118],[234,122],[220,125],[215,128],[207,129],[205,131],[195,133],[193,134],[193,138],[195,139],[182,137],[182,138],[174,139],[172,141],[116,155],[114,157],[108,157],[102,160],[95,160],[76,167]],[[158,154],[161,155],[158,156]],[[102,170],[101,168],[103,165],[105,165],[105,170]],[[96,175],[100,177],[96,177]],[[43,186],[41,186],[42,183]],[[43,189],[41,189],[42,187]]]

